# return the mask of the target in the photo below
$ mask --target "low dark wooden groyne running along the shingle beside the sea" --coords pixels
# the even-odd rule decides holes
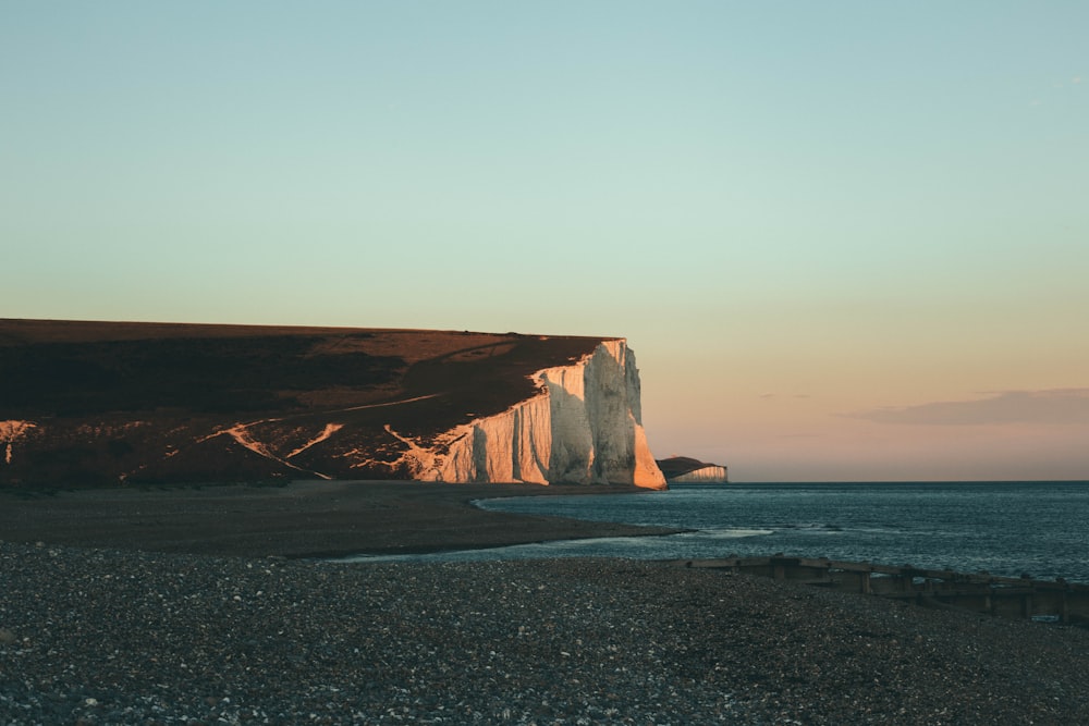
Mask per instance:
[[[994,577],[987,573],[967,575],[910,565],[896,567],[782,555],[683,559],[675,564],[792,580],[929,607],[1089,627],[1089,585],[1061,578],[1033,580]]]

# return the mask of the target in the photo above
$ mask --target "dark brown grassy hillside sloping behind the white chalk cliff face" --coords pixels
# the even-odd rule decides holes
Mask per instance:
[[[405,477],[387,427],[428,442],[501,413],[601,340],[0,320],[0,484]]]

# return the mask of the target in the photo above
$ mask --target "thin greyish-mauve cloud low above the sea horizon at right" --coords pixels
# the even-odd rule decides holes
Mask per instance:
[[[1001,423],[1089,423],[1089,389],[989,392],[978,401],[939,401],[902,408],[846,414],[874,423],[979,426]]]

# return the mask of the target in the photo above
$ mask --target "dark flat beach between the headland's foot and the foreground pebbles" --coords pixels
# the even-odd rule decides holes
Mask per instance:
[[[485,512],[474,500],[632,487],[304,481],[35,493],[0,489],[0,540],[247,557],[420,553],[675,530]]]

